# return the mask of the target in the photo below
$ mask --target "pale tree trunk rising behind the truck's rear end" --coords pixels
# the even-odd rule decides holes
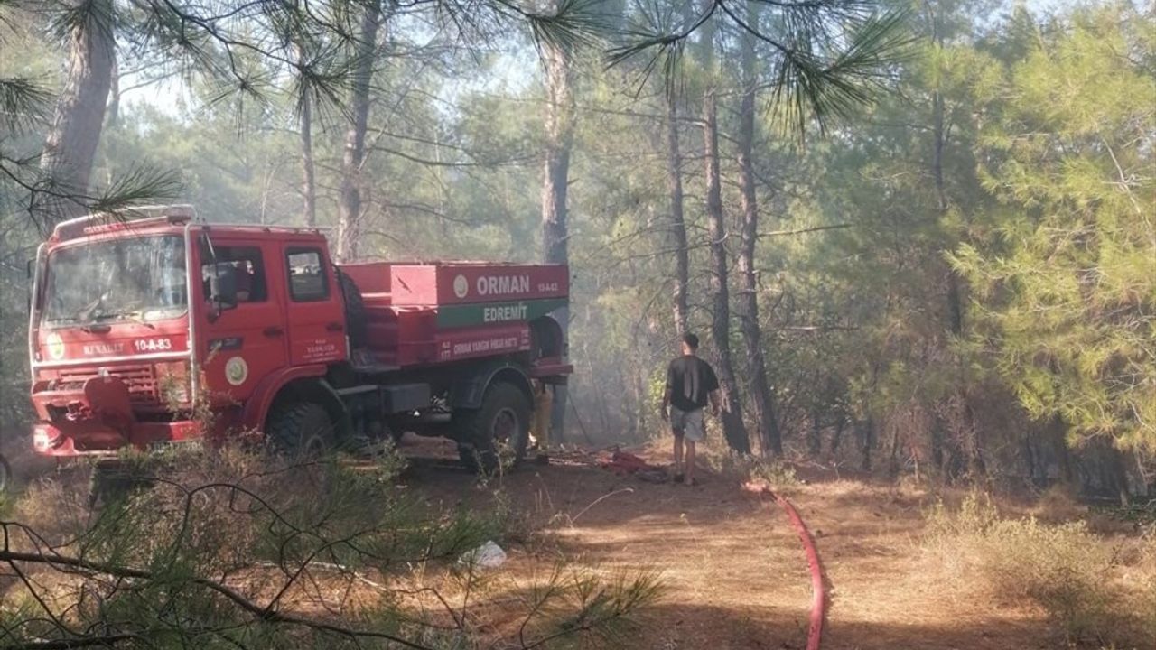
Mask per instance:
[[[566,52],[544,43],[546,67],[546,164],[542,170],[542,259],[547,264],[569,264],[566,191],[570,184],[570,150],[573,147],[575,98],[572,72]],[[570,330],[569,309],[558,315],[563,333]],[[551,440],[565,440],[566,386],[554,386]]]

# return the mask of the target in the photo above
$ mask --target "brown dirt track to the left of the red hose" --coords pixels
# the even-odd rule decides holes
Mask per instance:
[[[551,467],[541,483],[576,516],[557,530],[568,554],[605,568],[661,571],[667,598],[636,648],[801,647],[808,574],[776,504],[718,480],[689,488],[600,474]],[[581,512],[602,494],[613,495]]]

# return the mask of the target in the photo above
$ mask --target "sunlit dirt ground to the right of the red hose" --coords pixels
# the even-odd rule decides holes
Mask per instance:
[[[830,585],[824,650],[1032,650],[1061,640],[1027,608],[961,600],[917,547],[924,493],[818,479],[792,496]]]

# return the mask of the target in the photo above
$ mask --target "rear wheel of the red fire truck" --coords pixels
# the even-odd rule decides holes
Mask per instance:
[[[486,390],[481,408],[459,413],[458,457],[467,470],[492,474],[503,452],[514,465],[526,456],[531,405],[518,386],[498,382]]]

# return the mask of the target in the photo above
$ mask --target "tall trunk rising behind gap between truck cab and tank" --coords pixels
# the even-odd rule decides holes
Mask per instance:
[[[362,217],[362,164],[365,162],[365,131],[369,126],[370,88],[377,52],[381,8],[377,1],[365,5],[362,16],[357,60],[355,61],[349,108],[353,121],[346,132],[341,158],[341,186],[338,197],[338,261],[357,258],[358,222]]]

